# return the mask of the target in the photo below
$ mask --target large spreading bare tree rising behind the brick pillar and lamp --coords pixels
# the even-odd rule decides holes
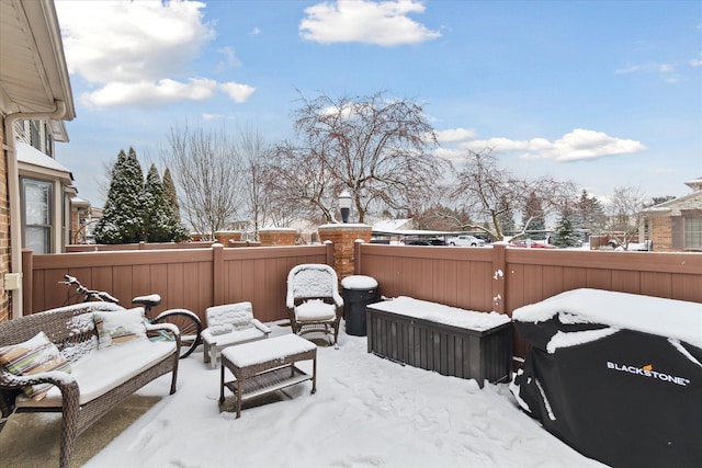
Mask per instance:
[[[281,189],[304,210],[317,209],[333,221],[337,197],[351,193],[355,215],[408,209],[441,176],[443,161],[421,106],[378,92],[332,100],[302,98],[295,112],[298,140],[276,148]]]

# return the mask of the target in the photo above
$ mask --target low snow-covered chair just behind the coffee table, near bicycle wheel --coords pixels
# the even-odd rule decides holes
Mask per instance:
[[[225,304],[205,310],[207,328],[201,333],[203,361],[216,368],[222,350],[235,344],[257,341],[271,333],[271,329],[253,318],[251,303]]]

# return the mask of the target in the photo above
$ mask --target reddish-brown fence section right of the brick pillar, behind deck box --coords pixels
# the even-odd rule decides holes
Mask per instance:
[[[510,316],[518,307],[580,287],[702,303],[699,253],[358,243],[355,273],[377,279],[386,297],[411,296]],[[524,351],[517,336],[516,354]]]

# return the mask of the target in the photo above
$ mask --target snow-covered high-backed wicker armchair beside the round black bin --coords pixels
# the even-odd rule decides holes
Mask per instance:
[[[293,333],[329,333],[333,329],[331,344],[337,344],[343,299],[331,266],[304,263],[293,267],[287,275],[286,306]]]

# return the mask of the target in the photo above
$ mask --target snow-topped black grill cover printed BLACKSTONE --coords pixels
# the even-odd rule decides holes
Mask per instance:
[[[548,432],[614,467],[702,467],[702,304],[574,289],[512,319],[511,390]]]

